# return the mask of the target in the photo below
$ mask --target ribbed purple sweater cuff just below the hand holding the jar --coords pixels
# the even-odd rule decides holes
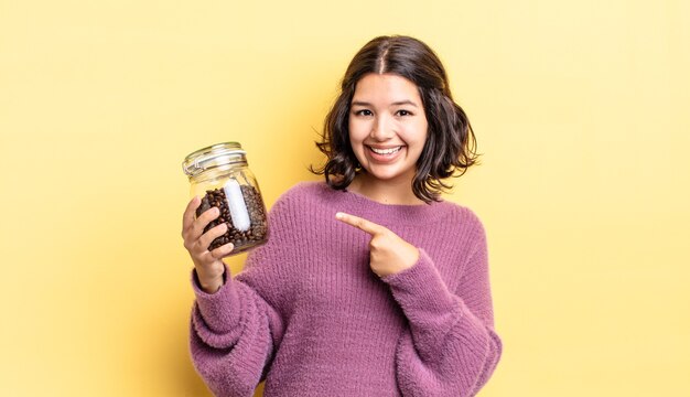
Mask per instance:
[[[225,267],[225,275],[230,270]],[[196,296],[196,308],[206,325],[217,333],[233,330],[239,325],[240,299],[235,282],[230,277],[224,276],[225,282],[214,293],[204,292],[198,283],[196,271],[192,270],[192,288]]]

